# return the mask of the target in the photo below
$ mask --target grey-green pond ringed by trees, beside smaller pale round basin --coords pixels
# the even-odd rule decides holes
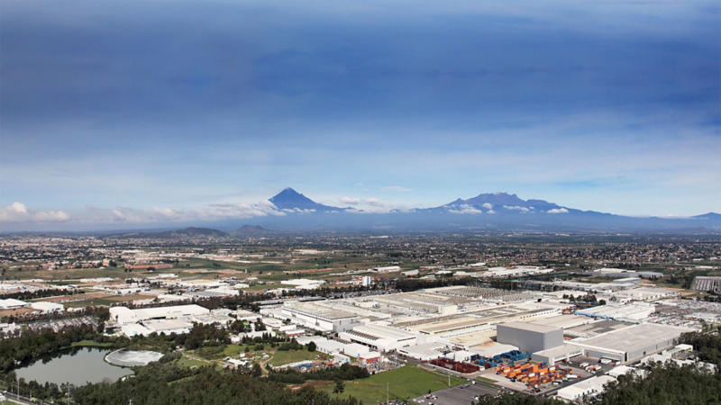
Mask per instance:
[[[105,363],[105,348],[74,347],[63,350],[54,356],[44,356],[38,361],[15,370],[19,378],[25,381],[37,380],[38,383],[100,383],[115,382],[120,377],[132,374],[129,368]]]

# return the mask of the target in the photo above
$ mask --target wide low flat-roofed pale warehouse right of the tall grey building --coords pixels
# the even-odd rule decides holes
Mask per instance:
[[[583,349],[584,356],[627,362],[672,347],[681,333],[693,329],[643,323],[616,329],[584,340],[570,340],[568,345]]]

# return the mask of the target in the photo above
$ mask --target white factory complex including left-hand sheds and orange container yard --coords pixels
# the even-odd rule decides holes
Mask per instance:
[[[397,356],[468,378],[484,373],[504,377],[519,391],[575,382],[579,375],[571,375],[568,366],[581,359],[589,378],[556,393],[566,401],[597,395],[614,380],[610,374],[592,376],[599,368],[589,364],[624,366],[616,374],[626,373],[636,362],[671,358],[684,349],[672,348],[680,335],[698,330],[694,320],[675,325],[657,321],[663,320],[655,316],[658,311],[668,309],[676,296],[673,290],[624,284],[620,291],[598,293],[607,301],[602,304],[571,302],[569,293],[581,296],[578,290],[463,285],[339,300],[263,301],[258,302],[260,313],[178,305],[112,307],[110,315],[119,333],[128,337],[187,333],[195,322],[227,326],[242,320],[253,331],[233,336],[234,342],[264,333],[285,334],[304,345],[314,342],[316,350],[341,363],[350,357],[370,364]],[[267,330],[255,330],[258,320]]]

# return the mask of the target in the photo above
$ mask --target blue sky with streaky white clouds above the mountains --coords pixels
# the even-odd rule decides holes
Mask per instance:
[[[721,211],[716,1],[6,1],[0,35],[0,229],[267,215],[287,186]]]

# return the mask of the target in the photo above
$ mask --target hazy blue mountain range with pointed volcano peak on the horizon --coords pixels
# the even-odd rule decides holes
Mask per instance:
[[[363,213],[351,207],[324,205],[289,187],[270,198],[269,202],[287,213],[254,219],[269,229],[721,231],[721,215],[715,212],[673,219],[627,217],[582,211],[544,200],[523,200],[512,193],[481,193],[438,207],[388,213]]]

